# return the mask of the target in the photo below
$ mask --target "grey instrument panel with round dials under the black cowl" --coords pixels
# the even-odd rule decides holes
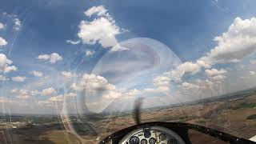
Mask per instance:
[[[173,130],[162,126],[150,126],[131,131],[119,144],[185,144],[185,142]]]

